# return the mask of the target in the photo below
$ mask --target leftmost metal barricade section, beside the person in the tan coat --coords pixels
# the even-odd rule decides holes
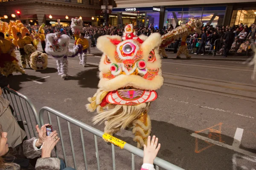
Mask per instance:
[[[14,117],[18,123],[22,122],[24,130],[26,131],[27,138],[30,139],[36,136],[35,126],[39,125],[39,118],[35,106],[23,94],[14,91],[11,88],[2,88],[3,97],[9,100],[10,105],[14,110]]]

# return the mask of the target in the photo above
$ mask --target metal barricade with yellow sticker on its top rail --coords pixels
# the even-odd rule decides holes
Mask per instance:
[[[45,111],[47,111],[47,115],[44,115]],[[52,119],[51,114],[56,116],[55,120],[53,120],[54,118]],[[85,167],[86,170],[88,170],[89,165],[91,165],[91,166],[96,166],[97,165],[97,167],[95,167],[93,169],[100,170],[100,162],[99,162],[100,159],[99,159],[99,149],[98,149],[98,147],[102,147],[102,145],[104,145],[105,142],[104,141],[99,141],[98,142],[97,136],[99,136],[100,138],[103,138],[103,136],[106,136],[105,133],[103,133],[102,131],[100,131],[100,130],[94,128],[94,127],[91,127],[91,126],[89,126],[89,125],[87,125],[83,122],[80,122],[80,121],[78,121],[78,120],[76,120],[76,119],[74,119],[70,116],[67,116],[64,113],[61,113],[61,112],[56,111],[52,108],[49,108],[49,107],[43,107],[43,108],[41,108],[41,110],[39,112],[39,118],[40,118],[41,125],[44,125],[44,117],[45,116],[48,117],[49,124],[52,125],[53,122],[55,122],[55,121],[57,122],[57,126],[55,126],[55,125],[52,125],[52,126],[54,128],[56,127],[56,129],[58,128],[58,130],[57,130],[58,131],[58,136],[61,139],[59,143],[61,143],[61,144],[57,144],[57,149],[55,150],[55,153],[56,153],[57,157],[63,156],[63,159],[65,161],[66,166],[68,166],[68,164],[70,164],[70,162],[72,162],[72,159],[73,159],[73,165],[71,165],[71,166],[75,167],[76,170],[84,169],[84,167]],[[64,121],[64,122],[61,122],[61,120]],[[65,123],[67,123],[67,126],[64,126]],[[72,133],[71,125],[73,125],[73,129],[74,128],[77,128],[77,129],[79,128],[80,135]],[[67,128],[67,129],[63,130],[64,128]],[[64,134],[62,133],[63,131],[68,131],[68,133],[69,133],[68,137],[67,137],[67,133],[64,133]],[[86,141],[87,140],[89,142],[93,142],[93,141],[90,140],[90,138],[88,138],[88,137],[84,139],[84,133],[90,133],[90,135],[91,135],[91,133],[93,133],[94,144],[95,144],[95,152],[96,152],[96,162],[95,162],[95,159],[87,161],[87,159],[91,159],[92,155],[89,155],[89,156],[87,155],[88,156],[87,157],[86,156],[86,149],[91,150],[92,148],[89,148],[89,147],[86,146],[86,143],[87,143]],[[74,137],[75,140],[73,140],[73,137]],[[116,144],[117,146],[120,147],[122,145],[124,150],[127,150],[128,152],[130,152],[130,154],[131,154],[131,169],[135,170],[135,157],[134,156],[137,155],[137,156],[140,156],[140,157],[143,158],[143,150],[140,150],[137,147],[134,147],[131,144],[125,143],[122,140],[117,139],[113,136],[110,136],[110,137],[111,137],[110,139],[115,139],[115,141],[118,141],[119,144],[122,143],[120,145]],[[80,138],[80,139],[78,139],[78,138]],[[104,139],[106,140],[106,138],[104,138]],[[71,150],[71,152],[67,152],[67,147],[68,146],[64,144],[64,142],[68,141],[68,140],[70,140],[70,145],[71,145],[70,150]],[[100,142],[103,142],[103,143],[100,143]],[[77,143],[79,143],[80,146]],[[85,149],[85,146],[87,147],[86,149]],[[60,150],[58,149],[59,147],[61,147],[63,155],[60,154]],[[106,155],[107,154],[106,148],[103,147],[102,150],[104,150],[104,153]],[[78,156],[75,155],[79,151],[80,151],[80,154],[81,154],[81,151],[82,151],[83,156],[79,155],[79,157],[78,157]],[[93,152],[93,151],[94,151],[94,149],[91,150],[91,152]],[[123,153],[123,150],[117,150],[117,152],[122,152],[121,156],[124,156],[124,154],[127,153],[127,152]],[[129,154],[129,153],[127,153],[127,154]],[[121,168],[116,167],[115,146],[114,146],[113,142],[111,142],[111,156],[112,156],[111,166],[113,166],[113,170],[122,169],[122,167]],[[105,157],[104,161],[106,161],[106,159],[111,159],[110,158],[111,156]],[[78,157],[79,162],[80,162],[79,165],[76,164],[77,163],[77,161],[76,161],[77,157]],[[121,159],[121,158],[118,157],[118,159]],[[128,159],[125,158],[124,160],[125,160],[125,163],[127,163]],[[67,162],[69,162],[69,163],[67,163]],[[84,163],[82,163],[82,162],[84,162]],[[166,170],[183,170],[182,168],[177,167],[176,165],[171,164],[168,161],[164,161],[163,159],[160,159],[158,157],[154,160],[154,164],[156,165],[156,170],[159,170],[159,167],[162,167]],[[92,169],[92,168],[90,168],[90,169]]]

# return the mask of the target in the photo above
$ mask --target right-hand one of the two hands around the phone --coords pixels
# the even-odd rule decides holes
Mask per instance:
[[[49,158],[51,157],[51,152],[55,145],[58,143],[60,138],[58,138],[57,131],[53,131],[49,136],[46,136],[44,139],[44,145],[42,146],[42,158]]]

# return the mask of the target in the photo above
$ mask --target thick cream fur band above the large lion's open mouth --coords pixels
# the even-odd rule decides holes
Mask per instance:
[[[133,86],[134,88],[143,90],[157,90],[163,85],[163,77],[159,71],[158,76],[152,80],[144,79],[137,75],[119,75],[114,79],[106,80],[102,78],[102,72],[100,72],[99,89],[103,91],[114,91],[126,86]]]

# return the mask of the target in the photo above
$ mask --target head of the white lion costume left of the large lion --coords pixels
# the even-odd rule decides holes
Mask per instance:
[[[70,37],[66,34],[51,33],[46,35],[47,44],[45,51],[52,56],[63,57],[68,52]]]

